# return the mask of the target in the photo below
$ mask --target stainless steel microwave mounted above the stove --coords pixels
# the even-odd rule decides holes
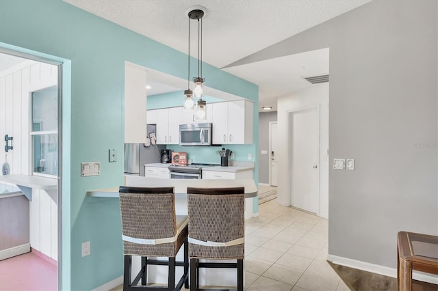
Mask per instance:
[[[179,146],[211,146],[211,123],[180,124]]]

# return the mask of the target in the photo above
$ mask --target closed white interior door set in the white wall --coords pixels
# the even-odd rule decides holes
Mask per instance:
[[[292,113],[291,205],[318,214],[319,171],[318,109]]]

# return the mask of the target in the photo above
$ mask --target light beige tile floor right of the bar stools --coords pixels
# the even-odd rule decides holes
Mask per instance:
[[[327,219],[276,199],[261,204],[259,217],[246,220],[245,290],[349,290],[326,262],[328,233]]]

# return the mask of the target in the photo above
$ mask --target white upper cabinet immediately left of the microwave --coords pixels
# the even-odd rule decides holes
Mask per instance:
[[[157,144],[179,143],[179,124],[183,117],[182,107],[156,109]]]

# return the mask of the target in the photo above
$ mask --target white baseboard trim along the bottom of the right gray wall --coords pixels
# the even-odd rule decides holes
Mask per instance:
[[[387,266],[381,266],[376,264],[371,264],[368,262],[362,262],[358,260],[352,260],[349,258],[339,257],[337,255],[327,255],[327,260],[332,262],[333,264],[338,264],[341,266],[348,266],[350,268],[357,268],[358,270],[367,271],[371,273],[376,273],[380,275],[384,275],[387,277],[397,277],[397,269],[389,268]],[[418,281],[424,281],[428,283],[438,284],[438,276],[431,275],[428,273],[413,271],[412,277]]]

